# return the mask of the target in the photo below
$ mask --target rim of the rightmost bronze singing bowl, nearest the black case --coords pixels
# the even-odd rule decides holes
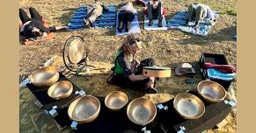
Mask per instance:
[[[216,99],[216,98],[210,98],[210,97],[208,97],[208,96],[202,95],[202,94],[201,94],[201,90],[200,90],[199,88],[200,88],[201,84],[204,83],[204,82],[212,82],[212,83],[214,83],[214,84],[220,86],[220,88],[222,88],[222,91],[223,91],[223,93],[224,93],[223,97]],[[201,95],[202,98],[204,98],[204,99],[205,99],[206,101],[208,101],[208,102],[222,102],[222,101],[225,99],[226,95],[227,95],[227,91],[225,90],[225,88],[223,88],[223,86],[222,86],[221,84],[217,83],[216,81],[208,81],[208,80],[206,80],[206,81],[200,81],[200,82],[197,84],[196,90],[197,90],[197,93],[198,93],[199,95]]]

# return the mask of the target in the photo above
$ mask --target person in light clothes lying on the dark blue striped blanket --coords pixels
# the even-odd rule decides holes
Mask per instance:
[[[96,18],[102,15],[103,11],[108,11],[106,6],[103,3],[100,3],[99,0],[95,0],[95,4],[88,10],[88,17],[84,18],[84,25],[90,28]]]

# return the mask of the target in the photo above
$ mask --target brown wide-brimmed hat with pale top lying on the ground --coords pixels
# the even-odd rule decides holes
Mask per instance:
[[[175,69],[176,75],[182,75],[185,73],[195,73],[194,68],[189,63],[179,63]]]

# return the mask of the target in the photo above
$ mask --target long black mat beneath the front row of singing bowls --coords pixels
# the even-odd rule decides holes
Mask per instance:
[[[191,94],[197,95],[196,92],[191,91]],[[197,95],[198,96],[198,95]],[[78,124],[77,130],[74,132],[142,132],[143,126],[135,125],[128,120],[126,108],[119,112],[113,112],[106,108],[104,104],[104,97],[98,97],[100,101],[100,112],[98,118],[92,123]],[[173,109],[173,100],[163,103],[168,107],[168,110],[157,109],[157,116],[153,123],[146,125],[146,129],[151,133],[166,133],[177,132],[179,126],[186,128],[185,132],[200,133],[204,130],[208,130],[216,126],[217,123],[223,121],[223,119],[230,113],[230,106],[223,102],[209,104],[205,102],[205,113],[203,116],[196,120],[186,120],[179,116],[179,114]],[[72,121],[68,116],[68,107],[58,110],[58,116],[55,116],[55,121],[62,127],[70,126]]]

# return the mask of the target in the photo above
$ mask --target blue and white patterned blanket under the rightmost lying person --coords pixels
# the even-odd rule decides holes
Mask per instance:
[[[174,17],[172,17],[168,23],[168,29],[179,29],[180,31],[186,31],[195,35],[207,36],[211,27],[215,25],[215,23],[211,23],[210,19],[205,18],[200,24],[198,28],[192,27],[194,22],[190,22],[188,26],[184,26],[186,23],[186,13],[187,11],[179,11]],[[215,18],[218,18],[219,12],[214,11]]]

